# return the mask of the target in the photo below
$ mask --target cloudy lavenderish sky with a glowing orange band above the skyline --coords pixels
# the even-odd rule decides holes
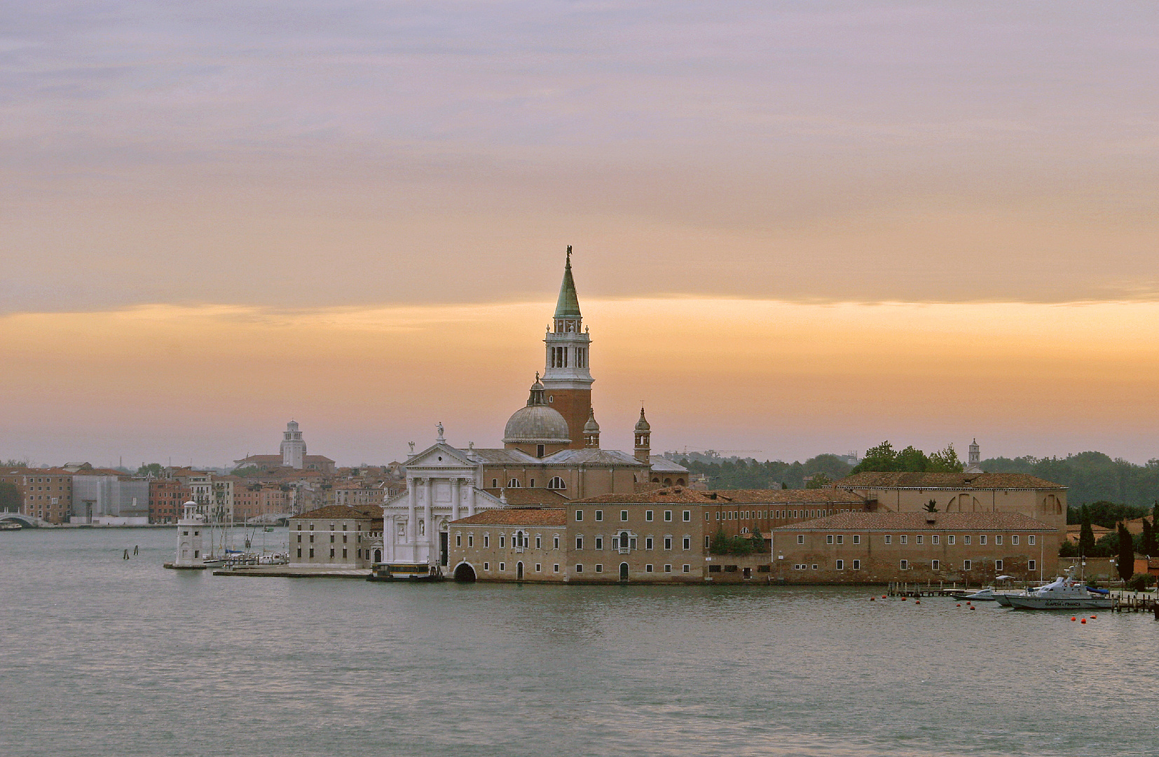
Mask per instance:
[[[0,5],[0,459],[1159,457],[1152,3]]]

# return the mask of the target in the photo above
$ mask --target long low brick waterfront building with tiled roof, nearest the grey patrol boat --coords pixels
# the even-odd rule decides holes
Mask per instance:
[[[1060,532],[1020,512],[840,512],[774,529],[785,583],[992,583],[1054,576]]]

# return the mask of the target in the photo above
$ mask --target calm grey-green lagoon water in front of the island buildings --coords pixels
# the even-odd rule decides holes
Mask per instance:
[[[165,570],[173,541],[0,532],[0,755],[1159,751],[1147,614],[235,578]]]

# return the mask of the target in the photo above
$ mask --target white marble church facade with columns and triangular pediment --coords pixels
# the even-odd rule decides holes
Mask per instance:
[[[407,460],[406,472],[407,490],[382,504],[384,562],[442,565],[451,521],[503,507],[476,486],[479,465],[471,453],[442,435]]]

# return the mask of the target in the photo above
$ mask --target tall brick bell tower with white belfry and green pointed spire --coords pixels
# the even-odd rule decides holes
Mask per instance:
[[[588,349],[591,336],[583,330],[583,315],[571,278],[571,246],[568,245],[563,265],[563,283],[555,304],[555,316],[544,337],[547,359],[544,367],[544,390],[547,406],[568,422],[569,449],[584,447],[584,424],[591,417],[591,385],[595,379],[588,370]]]

